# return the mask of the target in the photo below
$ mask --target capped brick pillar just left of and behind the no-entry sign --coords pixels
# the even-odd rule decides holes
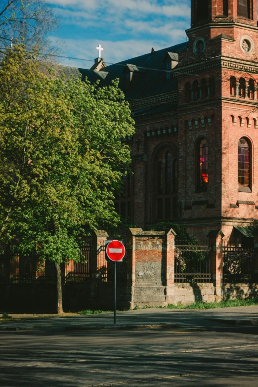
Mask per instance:
[[[108,238],[108,233],[105,230],[92,231],[92,266],[91,271],[93,276],[101,274],[107,267],[105,261],[105,241]]]

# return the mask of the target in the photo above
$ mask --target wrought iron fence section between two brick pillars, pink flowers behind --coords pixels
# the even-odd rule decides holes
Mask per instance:
[[[211,282],[208,241],[175,240],[174,281]]]

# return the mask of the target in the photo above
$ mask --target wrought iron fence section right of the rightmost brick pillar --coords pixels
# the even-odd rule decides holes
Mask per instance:
[[[255,250],[224,243],[223,282],[250,282],[255,274]]]

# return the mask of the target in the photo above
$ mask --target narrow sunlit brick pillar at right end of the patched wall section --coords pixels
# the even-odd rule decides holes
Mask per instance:
[[[174,237],[176,233],[171,228],[166,232],[166,236],[166,301],[176,304],[174,294]]]

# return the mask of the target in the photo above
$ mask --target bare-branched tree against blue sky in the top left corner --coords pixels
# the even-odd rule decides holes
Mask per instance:
[[[57,25],[51,8],[42,0],[1,0],[0,4],[0,52],[13,43],[26,48],[47,46],[46,35]]]

